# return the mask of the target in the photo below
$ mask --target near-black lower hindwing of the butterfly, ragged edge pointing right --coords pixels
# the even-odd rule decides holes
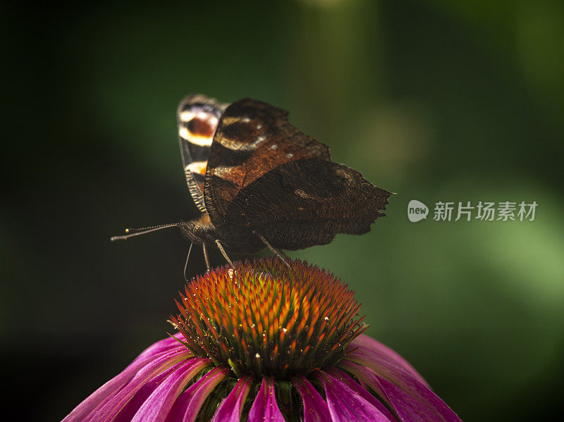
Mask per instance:
[[[240,190],[224,220],[257,230],[274,247],[303,249],[329,243],[338,233],[368,232],[385,215],[390,195],[356,170],[324,159],[300,159]]]

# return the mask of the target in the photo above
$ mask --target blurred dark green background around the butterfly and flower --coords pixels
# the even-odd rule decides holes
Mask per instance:
[[[169,330],[188,244],[109,237],[197,216],[176,138],[190,92],[286,108],[335,161],[398,192],[369,234],[292,255],[347,281],[368,334],[463,420],[557,420],[564,4],[266,3],[2,6],[13,420],[61,419]],[[410,199],[431,216],[436,201],[539,206],[532,222],[410,223]]]

